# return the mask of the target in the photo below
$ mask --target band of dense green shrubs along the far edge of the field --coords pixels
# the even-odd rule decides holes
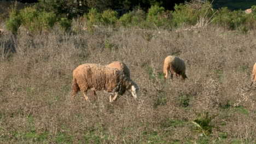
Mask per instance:
[[[88,4],[95,4],[98,9],[92,7],[88,10],[89,7],[86,7]],[[111,5],[111,3],[109,4]],[[137,7],[120,15],[120,11],[103,8],[95,2],[42,1],[34,7],[20,10],[19,13],[14,8],[7,20],[7,28],[12,33],[16,33],[19,27],[23,26],[32,33],[40,33],[49,31],[58,24],[65,32],[72,32],[72,20],[75,21],[77,18],[79,18],[77,24],[80,27],[85,26],[90,33],[94,32],[95,26],[100,25],[135,26],[143,29],[172,29],[189,26],[194,30],[205,28],[208,25],[216,25],[229,30],[238,29],[242,33],[256,27],[255,5],[252,6],[252,14],[246,14],[242,10],[231,11],[226,7],[213,9],[210,2],[192,1],[189,4],[176,4],[173,11],[166,10],[159,5],[160,3],[155,2],[155,5],[152,5],[148,11]],[[100,7],[106,10],[101,12]],[[75,29],[78,31],[78,28]]]

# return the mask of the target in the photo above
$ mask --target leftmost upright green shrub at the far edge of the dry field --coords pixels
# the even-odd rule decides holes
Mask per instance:
[[[16,8],[11,9],[10,17],[6,21],[5,25],[8,31],[10,31],[11,33],[15,34],[18,32],[18,29],[21,25],[21,17]]]

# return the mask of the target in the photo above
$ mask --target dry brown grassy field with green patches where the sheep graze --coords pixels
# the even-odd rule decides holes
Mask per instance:
[[[0,143],[255,143],[255,36],[216,27],[0,35]],[[184,59],[185,82],[163,80],[168,55]],[[138,99],[71,100],[79,64],[113,61],[130,68]]]

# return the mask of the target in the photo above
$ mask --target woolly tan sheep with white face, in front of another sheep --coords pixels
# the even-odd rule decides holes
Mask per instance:
[[[120,70],[100,64],[82,64],[73,71],[71,98],[81,91],[85,100],[90,101],[86,95],[88,89],[112,92],[109,97],[110,103],[117,99],[118,95],[123,95],[125,91],[130,92],[135,99],[138,97],[138,86],[135,82]]]

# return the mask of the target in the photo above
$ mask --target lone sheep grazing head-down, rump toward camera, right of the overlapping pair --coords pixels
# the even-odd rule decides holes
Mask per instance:
[[[171,71],[171,79],[173,77],[173,74],[176,76],[181,76],[183,82],[187,77],[185,74],[186,67],[185,63],[182,59],[176,57],[176,56],[167,56],[164,61],[164,75],[165,80],[168,76],[168,71]]]

